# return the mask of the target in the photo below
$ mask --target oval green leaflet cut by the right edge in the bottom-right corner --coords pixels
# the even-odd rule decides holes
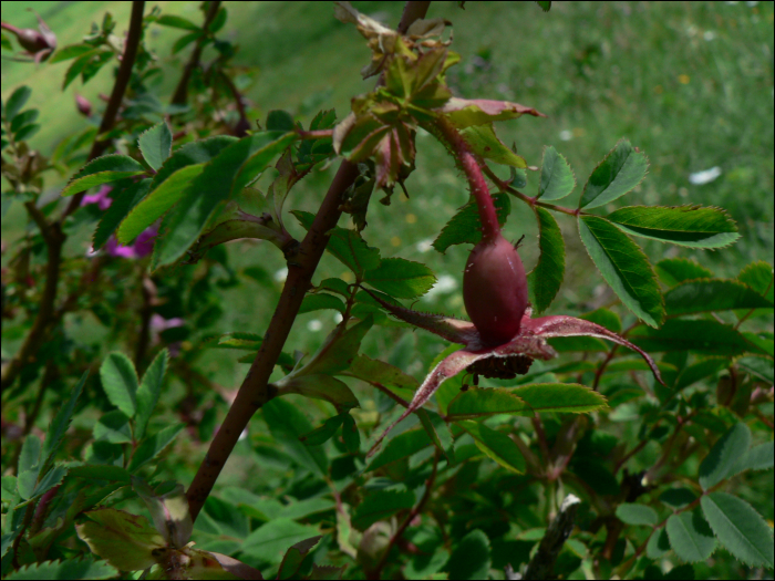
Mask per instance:
[[[727,551],[751,566],[775,566],[772,529],[751,505],[726,492],[703,496],[700,505]]]

